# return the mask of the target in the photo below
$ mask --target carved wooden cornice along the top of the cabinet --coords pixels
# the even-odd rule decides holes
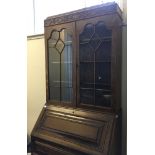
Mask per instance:
[[[44,26],[47,27],[51,25],[73,22],[77,20],[103,16],[106,14],[114,14],[114,13],[118,14],[119,17],[121,18],[122,12],[118,4],[115,2],[104,3],[101,5],[96,5],[96,6],[76,10],[76,11],[50,16],[45,19]]]

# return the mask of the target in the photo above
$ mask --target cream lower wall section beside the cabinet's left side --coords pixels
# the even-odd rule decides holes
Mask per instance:
[[[27,39],[27,132],[30,135],[46,101],[44,36]]]

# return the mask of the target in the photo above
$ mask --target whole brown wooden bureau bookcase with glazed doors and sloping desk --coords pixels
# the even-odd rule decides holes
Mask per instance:
[[[39,155],[120,155],[121,11],[116,3],[45,20],[46,104]]]

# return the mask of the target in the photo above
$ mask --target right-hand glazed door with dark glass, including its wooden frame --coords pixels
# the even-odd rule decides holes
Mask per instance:
[[[77,22],[78,106],[112,109],[115,104],[115,30],[106,16]]]

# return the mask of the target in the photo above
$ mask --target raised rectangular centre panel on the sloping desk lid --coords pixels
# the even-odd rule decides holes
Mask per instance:
[[[66,117],[55,113],[46,115],[43,119],[42,129],[70,135],[86,141],[97,142],[98,134],[104,127],[104,122],[79,118],[68,115]]]

